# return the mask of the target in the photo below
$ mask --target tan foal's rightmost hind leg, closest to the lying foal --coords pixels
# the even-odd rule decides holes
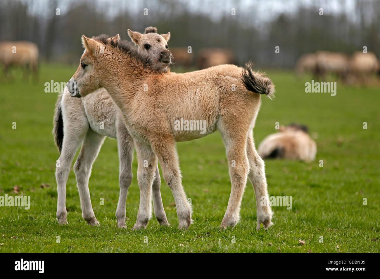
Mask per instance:
[[[260,225],[263,224],[264,228],[268,228],[272,225],[272,210],[269,206],[268,189],[265,178],[264,161],[257,154],[255,149],[255,143],[253,142],[252,133],[249,132],[247,139],[247,156],[249,161],[249,179],[255,189],[256,207],[257,207],[257,227],[260,229]]]

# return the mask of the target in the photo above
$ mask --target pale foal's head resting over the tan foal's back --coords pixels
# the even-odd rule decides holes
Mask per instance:
[[[128,29],[128,35],[133,43],[138,46],[140,53],[149,54],[152,58],[152,63],[161,63],[163,66],[169,66],[173,58],[168,50],[170,32],[159,35],[157,28],[147,27],[144,34]]]

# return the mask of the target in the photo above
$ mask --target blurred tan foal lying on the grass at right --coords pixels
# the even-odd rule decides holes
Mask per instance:
[[[282,158],[311,162],[317,154],[317,144],[307,134],[307,127],[298,124],[280,126],[280,132],[263,139],[258,147],[261,158]]]

